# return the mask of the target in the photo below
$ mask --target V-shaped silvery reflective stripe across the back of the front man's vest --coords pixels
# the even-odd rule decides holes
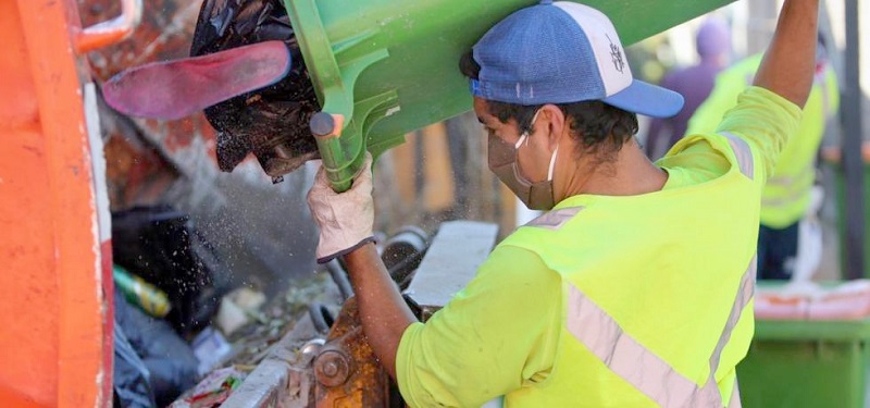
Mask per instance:
[[[666,408],[721,407],[716,370],[722,349],[755,290],[756,260],[741,277],[739,287],[722,335],[710,356],[710,374],[704,386],[686,379],[625,333],[604,309],[574,285],[568,293],[568,331],[611,371]],[[739,397],[737,397],[739,401]],[[739,404],[739,403],[738,403]]]

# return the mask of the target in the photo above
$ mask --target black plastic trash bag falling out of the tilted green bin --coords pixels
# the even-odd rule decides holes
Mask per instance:
[[[232,171],[253,152],[263,171],[277,181],[307,160],[320,158],[309,128],[320,106],[282,0],[204,0],[190,55],[266,40],[287,45],[289,74],[272,86],[209,107],[204,113],[217,131],[222,171]]]

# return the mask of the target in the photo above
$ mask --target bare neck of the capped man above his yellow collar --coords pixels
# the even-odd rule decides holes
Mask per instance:
[[[668,173],[649,161],[634,138],[613,154],[616,157],[609,162],[591,158],[576,162],[576,171],[563,173],[572,177],[566,181],[562,188],[557,186],[557,197],[581,194],[637,196],[658,191],[668,182]],[[558,191],[564,193],[559,195]]]

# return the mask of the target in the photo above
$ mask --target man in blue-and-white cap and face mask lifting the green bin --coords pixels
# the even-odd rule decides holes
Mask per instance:
[[[462,59],[489,166],[544,215],[417,322],[372,236],[371,172],[309,206],[319,261],[344,256],[366,338],[413,407],[738,406],[753,335],[761,188],[812,82],[818,0],[786,0],[758,71],[719,134],[651,163],[635,113],[682,98],[634,81],[600,12],[544,1]]]

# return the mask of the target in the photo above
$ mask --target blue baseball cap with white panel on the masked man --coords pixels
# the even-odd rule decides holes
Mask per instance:
[[[472,49],[481,65],[474,96],[514,104],[600,100],[670,118],[683,96],[634,79],[613,23],[600,11],[544,0],[493,26]]]

